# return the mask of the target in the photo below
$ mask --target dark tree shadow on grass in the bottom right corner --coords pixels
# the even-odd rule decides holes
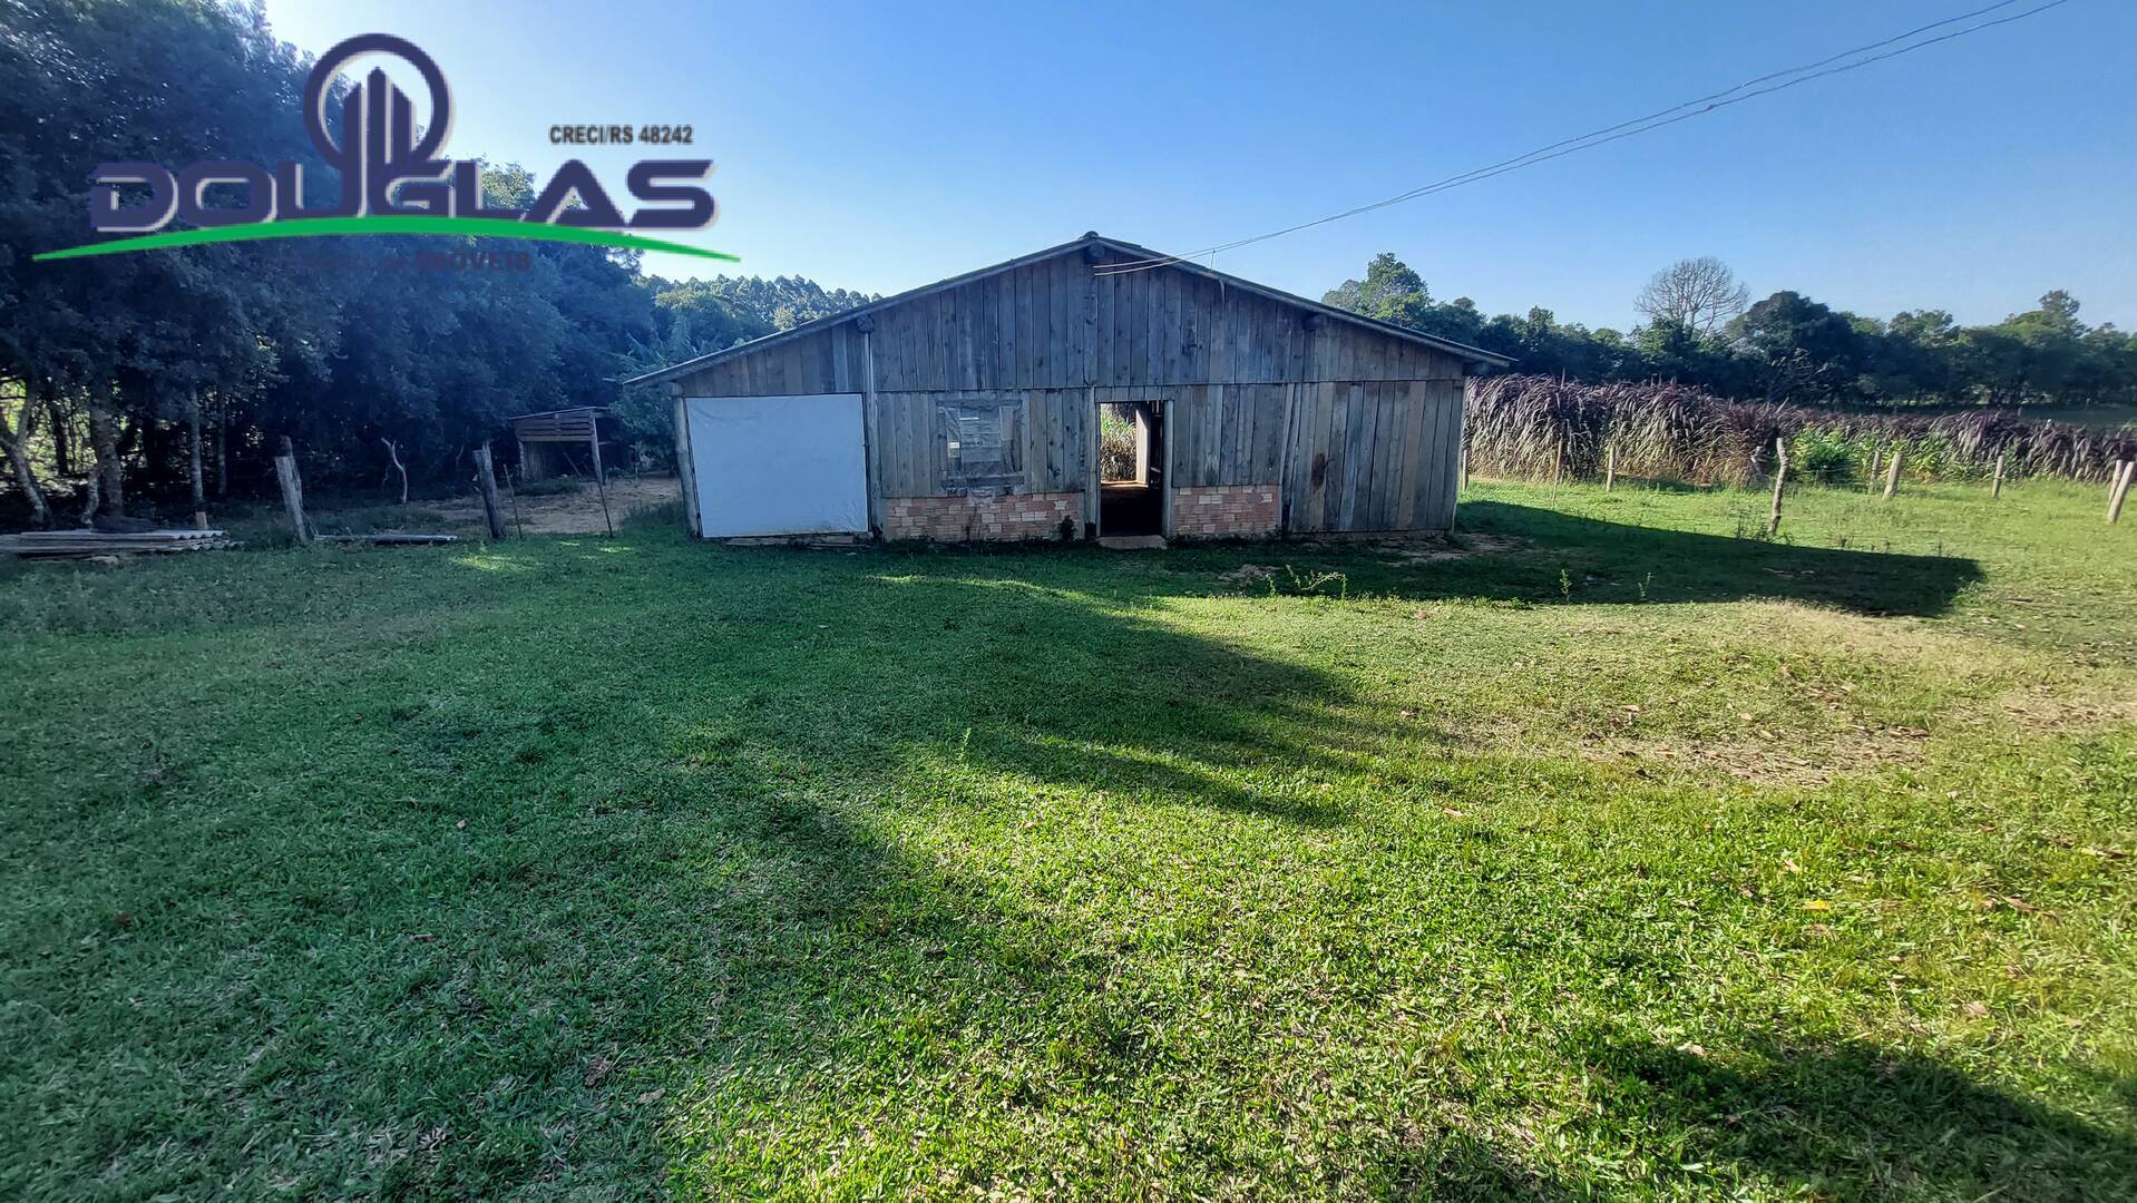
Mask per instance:
[[[2094,1092],[2116,1126],[2043,1107],[1919,1053],[1851,1041],[1765,1036],[1671,1049],[1616,1032],[1564,1056],[1592,1083],[1566,1135],[1603,1154],[1592,1171],[1537,1165],[1466,1132],[1383,1156],[1398,1199],[1588,1199],[1637,1186],[1671,1197],[1744,1190],[1808,1199],[2131,1199],[2137,1113],[2128,1079]],[[2118,1098],[2120,1094],[2120,1098]],[[1620,1165],[1637,1167],[1628,1184]]]

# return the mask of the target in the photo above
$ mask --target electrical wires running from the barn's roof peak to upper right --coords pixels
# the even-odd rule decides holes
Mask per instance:
[[[1165,265],[1171,265],[1171,263],[1186,263],[1186,261],[1192,261],[1192,259],[1214,256],[1214,254],[1222,254],[1227,250],[1239,250],[1244,246],[1252,246],[1257,241],[1269,241],[1269,239],[1284,237],[1284,235],[1291,235],[1291,233],[1299,233],[1299,231],[1306,231],[1306,229],[1325,226],[1329,222],[1340,222],[1340,220],[1346,220],[1346,218],[1355,218],[1355,216],[1361,216],[1361,214],[1385,209],[1385,207],[1391,207],[1391,205],[1402,205],[1406,201],[1417,201],[1417,199],[1430,197],[1434,192],[1447,192],[1449,188],[1460,188],[1464,184],[1477,184],[1477,182],[1489,179],[1494,175],[1504,175],[1509,171],[1519,171],[1524,167],[1534,167],[1539,162],[1549,162],[1554,158],[1564,158],[1569,154],[1577,154],[1577,152],[1584,152],[1584,150],[1594,150],[1598,145],[1609,145],[1613,141],[1628,139],[1628,137],[1635,137],[1635,135],[1643,135],[1643,132],[1652,132],[1652,130],[1658,130],[1658,128],[1665,128],[1665,126],[1673,126],[1678,122],[1688,122],[1693,118],[1703,118],[1703,115],[1707,115],[1707,113],[1712,113],[1716,109],[1727,109],[1731,105],[1742,105],[1742,103],[1754,100],[1759,96],[1769,96],[1774,92],[1784,92],[1789,88],[1795,88],[1795,85],[1801,85],[1801,83],[1810,83],[1814,79],[1825,79],[1829,75],[1842,75],[1842,73],[1849,73],[1849,71],[1859,71],[1859,68],[1870,66],[1874,62],[1885,62],[1889,58],[1900,58],[1904,53],[1915,53],[1917,49],[1928,49],[1928,47],[1938,45],[1938,43],[1949,43],[1949,41],[1962,38],[1966,34],[1977,34],[1981,30],[1990,30],[1990,28],[1996,28],[1996,26],[2009,26],[2011,21],[2024,21],[2026,17],[2032,17],[2037,13],[2045,13],[2049,9],[2060,9],[2062,4],[2069,4],[2071,0],[2047,0],[2045,4],[2034,4],[2032,9],[2026,9],[2022,13],[2011,13],[2007,17],[1996,17],[1992,21],[1979,21],[1975,26],[1966,26],[1964,30],[1951,30],[1951,32],[1938,34],[1934,38],[1923,38],[1923,41],[1915,41],[1915,43],[1908,43],[1908,45],[1900,45],[1898,49],[1885,49],[1885,47],[1891,47],[1896,43],[1906,43],[1908,38],[1915,38],[1915,36],[1925,34],[1930,30],[1938,30],[1938,28],[1945,28],[1945,26],[1953,26],[1957,21],[1981,17],[1981,15],[1994,13],[1998,9],[2009,9],[2011,4],[2017,4],[2017,2],[2019,0],[2000,0],[1998,4],[1987,4],[1987,6],[1975,9],[1970,13],[1960,13],[1960,15],[1953,15],[1953,17],[1945,17],[1940,21],[1930,21],[1928,26],[1917,26],[1917,28],[1904,32],[1904,34],[1893,34],[1889,38],[1883,38],[1883,41],[1876,41],[1876,43],[1870,43],[1870,45],[1861,45],[1861,47],[1855,47],[1855,49],[1846,49],[1846,51],[1821,58],[1816,62],[1806,62],[1801,66],[1791,66],[1791,68],[1784,68],[1784,71],[1772,71],[1772,73],[1761,75],[1757,79],[1746,79],[1744,83],[1737,83],[1735,88],[1725,88],[1720,92],[1712,92],[1712,94],[1699,96],[1695,100],[1684,100],[1682,105],[1671,105],[1667,109],[1658,109],[1658,111],[1648,113],[1643,118],[1631,118],[1631,120],[1618,122],[1613,126],[1603,126],[1603,128],[1590,130],[1586,135],[1560,139],[1560,141],[1554,141],[1549,145],[1541,145],[1537,150],[1530,150],[1526,154],[1517,154],[1513,158],[1502,158],[1498,162],[1492,162],[1487,167],[1477,167],[1477,169],[1464,171],[1460,175],[1449,175],[1445,179],[1436,179],[1432,184],[1423,184],[1419,188],[1410,188],[1408,192],[1398,192],[1398,194],[1387,197],[1383,201],[1372,201],[1368,205],[1357,205],[1357,207],[1344,209],[1340,214],[1329,214],[1325,218],[1314,218],[1310,222],[1299,222],[1299,224],[1284,226],[1284,229],[1278,229],[1278,231],[1259,233],[1259,235],[1252,235],[1252,237],[1242,237],[1242,239],[1225,241],[1225,244],[1218,244],[1218,246],[1207,246],[1203,250],[1195,250],[1195,252],[1188,252],[1188,254],[1163,254],[1163,256],[1154,256],[1154,259],[1135,259],[1135,261],[1126,261],[1126,263],[1107,263],[1107,265],[1098,267],[1096,274],[1098,276],[1124,276],[1128,271],[1150,271],[1152,267],[1165,267]],[[1885,53],[1870,53],[1870,51],[1878,51],[1878,49],[1885,49]],[[1857,56],[1866,56],[1866,53],[1870,53],[1870,56],[1868,58],[1857,58]],[[1842,60],[1853,60],[1853,62],[1842,62]],[[1834,64],[1838,64],[1838,66],[1834,66]],[[1793,79],[1789,79],[1789,77],[1793,77]],[[1772,83],[1776,79],[1780,79],[1782,83]],[[1757,88],[1759,83],[1767,83],[1767,85],[1765,88]]]

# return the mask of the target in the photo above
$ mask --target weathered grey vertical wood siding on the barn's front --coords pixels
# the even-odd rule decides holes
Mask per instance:
[[[1280,485],[1284,530],[1453,524],[1464,361],[1177,267],[1056,254],[735,355],[688,397],[865,393],[870,496],[942,496],[945,402],[1021,402],[1017,491],[1090,489],[1101,402],[1169,406],[1171,487]],[[1092,515],[1094,517],[1094,515]]]

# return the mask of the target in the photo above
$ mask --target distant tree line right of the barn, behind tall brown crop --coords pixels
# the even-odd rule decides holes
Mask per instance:
[[[1381,254],[1323,301],[1569,380],[1675,380],[1791,404],[2137,404],[2137,333],[2086,325],[2062,291],[1983,327],[1943,310],[1878,321],[1791,291],[1748,303],[1727,267],[1693,259],[1656,274],[1637,301],[1645,325],[1624,333],[1543,308],[1487,318],[1468,297],[1434,301],[1417,271]]]

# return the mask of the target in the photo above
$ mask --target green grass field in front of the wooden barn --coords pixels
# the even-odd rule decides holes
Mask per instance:
[[[0,568],[0,1197],[2137,1197],[2096,494]]]

